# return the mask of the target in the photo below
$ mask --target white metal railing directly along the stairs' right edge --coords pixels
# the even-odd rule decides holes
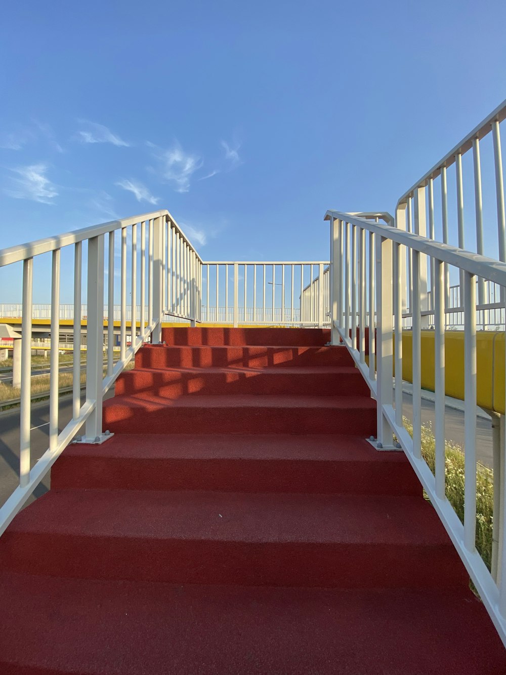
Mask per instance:
[[[331,221],[332,342],[342,341],[364,375],[377,401],[378,449],[394,448],[393,435],[409,458],[430,502],[437,510],[453,544],[506,644],[506,499],[504,441],[495,445],[494,539],[492,572],[476,550],[476,280],[506,287],[506,264],[484,258],[418,234],[338,211],[327,211]],[[405,255],[412,277],[403,273]],[[422,458],[421,416],[421,259],[434,269],[434,380],[435,473]],[[462,277],[459,303],[464,328],[465,513],[461,522],[445,495],[445,286],[444,266]],[[402,416],[403,298],[412,284],[412,437]],[[369,331],[366,329],[371,327]],[[372,328],[375,328],[373,330]],[[368,338],[366,344],[366,334]],[[368,359],[366,359],[368,352]],[[394,358],[395,354],[395,358]],[[367,363],[368,360],[368,363]],[[409,360],[408,360],[409,363]],[[395,376],[395,394],[393,377]],[[506,373],[504,375],[506,381]],[[504,391],[504,389],[503,389]],[[499,499],[501,495],[501,499]],[[496,506],[496,499],[497,504]],[[413,524],[416,526],[416,523]]]

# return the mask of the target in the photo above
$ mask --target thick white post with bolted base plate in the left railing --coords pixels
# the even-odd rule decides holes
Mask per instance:
[[[104,236],[88,240],[88,319],[86,329],[86,402],[95,407],[86,420],[82,443],[101,443],[104,346]]]

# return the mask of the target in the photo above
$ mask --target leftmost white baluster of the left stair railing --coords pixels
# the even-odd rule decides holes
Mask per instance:
[[[30,482],[30,424],[32,418],[32,295],[33,258],[23,261],[21,323],[20,486]],[[80,321],[79,315],[79,323]],[[51,357],[53,350],[51,350]]]

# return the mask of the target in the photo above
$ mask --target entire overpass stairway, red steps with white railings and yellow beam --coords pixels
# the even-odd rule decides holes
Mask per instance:
[[[1,267],[23,268],[21,317],[5,317],[20,325],[22,393],[19,485],[0,509],[3,672],[506,672],[505,117],[506,102],[395,216],[322,209],[320,260],[204,261],[166,210],[0,251]],[[69,325],[76,350],[85,336],[86,396],[76,362],[61,429],[52,350],[49,448],[32,464],[37,325]],[[433,464],[422,387],[435,393]],[[455,387],[461,517],[445,448]],[[477,404],[494,425],[489,557]],[[51,491],[22,510],[49,470]]]

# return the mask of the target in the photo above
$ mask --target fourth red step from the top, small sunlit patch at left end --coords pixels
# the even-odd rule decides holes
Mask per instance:
[[[376,430],[376,402],[366,396],[182,396],[150,393],[104,402],[104,429],[118,433],[345,433]]]

